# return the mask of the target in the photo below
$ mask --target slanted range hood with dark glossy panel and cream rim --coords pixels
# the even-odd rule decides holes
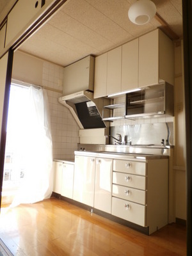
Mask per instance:
[[[107,127],[100,113],[109,99],[93,99],[93,92],[81,91],[60,97],[59,102],[70,109],[80,129]]]

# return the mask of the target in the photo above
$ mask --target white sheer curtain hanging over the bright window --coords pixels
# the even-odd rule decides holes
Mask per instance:
[[[52,193],[52,138],[47,94],[43,89],[30,86],[26,98],[20,109],[22,113],[15,121],[18,122],[15,124],[17,161],[22,164],[24,177],[20,179],[11,207],[39,202]]]

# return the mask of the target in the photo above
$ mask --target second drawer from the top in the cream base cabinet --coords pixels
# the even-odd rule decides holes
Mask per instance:
[[[126,186],[126,187],[145,190],[147,188],[146,180],[147,178],[145,176],[132,175],[132,174],[121,173],[121,172],[113,172],[113,183]]]

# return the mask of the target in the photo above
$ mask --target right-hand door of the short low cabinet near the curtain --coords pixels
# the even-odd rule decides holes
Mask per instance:
[[[63,163],[61,196],[73,198],[74,164]]]

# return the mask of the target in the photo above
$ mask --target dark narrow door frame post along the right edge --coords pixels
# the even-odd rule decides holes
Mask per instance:
[[[184,42],[184,97],[186,115],[186,202],[187,202],[187,255],[192,255],[192,18],[191,0],[182,0]]]

